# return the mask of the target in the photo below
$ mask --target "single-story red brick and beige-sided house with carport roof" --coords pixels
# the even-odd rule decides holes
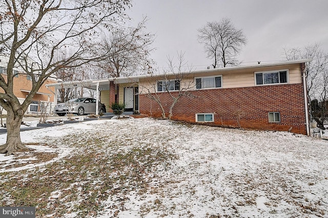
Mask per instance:
[[[186,72],[179,76],[181,81],[175,74],[167,74],[165,80],[162,75],[146,75],[49,86],[59,89],[78,85],[98,89],[100,97],[97,98],[108,109],[118,99],[126,104],[127,111],[139,111],[152,117],[160,117],[161,110],[147,93],[156,93],[168,112],[172,103],[170,94],[174,96],[177,90],[188,88],[192,96],[179,99],[173,108],[174,120],[247,129],[289,130],[305,135],[309,134],[309,121],[303,72],[309,61]],[[164,84],[169,84],[170,94],[165,92]]]

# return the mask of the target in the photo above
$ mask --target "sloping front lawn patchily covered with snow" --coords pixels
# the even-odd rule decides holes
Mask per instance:
[[[34,150],[0,155],[0,202],[37,217],[328,217],[325,140],[149,118],[21,136]]]

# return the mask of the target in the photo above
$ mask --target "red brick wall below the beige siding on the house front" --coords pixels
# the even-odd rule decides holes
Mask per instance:
[[[287,131],[306,135],[303,84],[263,85],[247,88],[209,89],[191,92],[173,108],[175,120],[195,122],[196,113],[214,113],[215,125]],[[175,93],[177,94],[177,93]],[[146,94],[139,95],[141,114],[160,117],[161,111]],[[167,93],[160,99],[166,112],[172,103]],[[280,123],[269,123],[269,112],[280,112]],[[239,117],[239,118],[238,118]]]

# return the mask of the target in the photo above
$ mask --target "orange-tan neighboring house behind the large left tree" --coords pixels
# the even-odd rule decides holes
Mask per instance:
[[[7,80],[7,65],[6,58],[0,56],[0,74]],[[23,103],[26,96],[31,92],[32,89],[32,78],[31,76],[23,73],[22,70],[14,68],[14,95],[18,98],[20,103]],[[46,84],[57,83],[55,79],[47,79],[46,82],[40,87],[37,93],[34,95],[31,104],[26,111],[26,114],[36,114],[40,113],[39,102],[49,102],[49,113],[54,107],[54,88],[46,88]],[[3,93],[4,90],[0,88],[0,93]],[[4,110],[3,114],[7,114]]]

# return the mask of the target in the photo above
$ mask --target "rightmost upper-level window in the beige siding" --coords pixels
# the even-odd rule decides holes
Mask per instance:
[[[255,82],[257,85],[287,83],[288,70],[255,72]]]

